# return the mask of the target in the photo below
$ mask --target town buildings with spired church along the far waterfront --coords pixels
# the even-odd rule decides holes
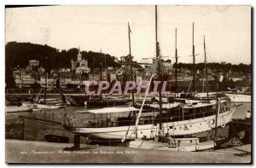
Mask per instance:
[[[39,84],[40,87],[56,88],[58,85],[62,88],[67,88],[71,84],[98,84],[99,81],[107,81],[112,83],[113,81],[125,81],[128,78],[128,67],[125,65],[125,58],[121,58],[122,67],[105,67],[102,65],[95,68],[88,67],[88,61],[82,58],[80,53],[75,60],[71,60],[70,68],[51,69],[45,72],[45,67],[42,67],[41,62],[38,60],[30,60],[27,62],[26,68],[15,67],[13,70],[13,77],[15,78],[15,86],[17,88],[30,88],[32,84]],[[143,62],[143,61],[142,61]],[[134,78],[137,84],[140,82],[147,82],[148,77],[152,73],[155,64],[155,59],[151,63],[138,63],[140,67],[133,67]],[[166,79],[169,82],[175,81],[175,68],[171,60],[163,61],[163,72]],[[192,71],[187,68],[179,68],[177,73],[177,81],[190,81],[193,78]],[[234,82],[242,81],[244,78],[251,80],[251,75],[248,73],[246,76],[242,72],[220,72],[224,74],[225,78],[229,80],[232,77]],[[196,77],[199,81],[203,81],[205,78],[204,69],[197,69]],[[214,79],[214,71],[208,70],[209,81]]]

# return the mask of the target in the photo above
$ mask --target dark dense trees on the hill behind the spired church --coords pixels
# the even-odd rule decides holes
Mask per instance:
[[[59,50],[48,45],[39,45],[34,43],[17,43],[9,42],[5,46],[5,66],[6,67],[23,67],[28,65],[29,60],[38,60],[42,67],[49,69],[71,68],[71,59],[76,60],[79,49],[73,48],[68,50]],[[81,51],[82,58],[88,61],[88,67],[104,67],[105,56],[108,67],[120,67],[116,62],[116,57],[96,53],[92,51]]]

